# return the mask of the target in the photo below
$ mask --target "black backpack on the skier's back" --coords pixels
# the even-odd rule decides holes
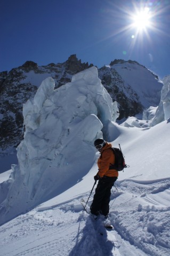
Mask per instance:
[[[120,144],[119,144],[119,147],[120,147]],[[118,172],[123,171],[124,168],[127,167],[127,165],[125,164],[125,158],[124,158],[121,148],[120,149],[119,148],[111,148],[111,149],[115,155],[115,164],[111,164],[109,166],[109,170],[115,169]]]

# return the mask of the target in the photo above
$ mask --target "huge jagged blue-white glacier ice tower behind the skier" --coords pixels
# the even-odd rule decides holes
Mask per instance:
[[[1,223],[55,196],[83,179],[95,159],[95,138],[109,138],[118,117],[117,102],[91,67],[54,90],[46,78],[34,99],[23,105],[24,139],[17,148],[19,165],[12,166]],[[10,210],[9,210],[10,209]]]

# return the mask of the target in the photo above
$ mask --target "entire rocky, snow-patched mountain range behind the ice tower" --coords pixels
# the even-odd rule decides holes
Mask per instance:
[[[22,140],[23,103],[34,97],[45,78],[52,77],[57,88],[70,82],[79,71],[92,66],[82,63],[73,54],[63,63],[38,66],[33,61],[27,61],[9,73],[0,73],[0,154],[7,154]],[[98,71],[112,100],[118,102],[119,119],[142,113],[150,106],[158,106],[162,84],[158,77],[139,63],[115,60]]]

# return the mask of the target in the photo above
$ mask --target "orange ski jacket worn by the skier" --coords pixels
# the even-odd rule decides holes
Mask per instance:
[[[99,172],[98,175],[102,178],[103,175],[109,177],[118,177],[118,171],[109,170],[110,164],[115,163],[115,155],[111,149],[112,145],[106,142],[106,145],[102,148],[101,156],[98,159]]]

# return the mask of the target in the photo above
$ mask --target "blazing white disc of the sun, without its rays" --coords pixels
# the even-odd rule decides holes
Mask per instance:
[[[139,32],[146,30],[151,26],[150,19],[151,15],[149,12],[149,8],[145,7],[143,10],[137,11],[132,16],[132,27],[135,27]]]

